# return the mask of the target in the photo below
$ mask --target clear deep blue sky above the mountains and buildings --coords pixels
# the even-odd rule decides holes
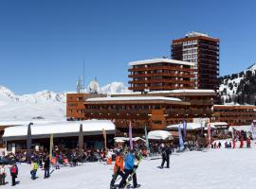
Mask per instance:
[[[247,2],[247,3],[245,3]],[[82,76],[127,85],[131,60],[170,56],[189,31],[220,38],[221,76],[256,62],[256,3],[203,0],[0,1],[0,85],[74,91]]]

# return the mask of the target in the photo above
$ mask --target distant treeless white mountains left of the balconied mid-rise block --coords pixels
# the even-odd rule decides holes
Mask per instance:
[[[99,87],[100,88],[100,87]],[[99,89],[102,94],[128,92],[121,82],[113,82]],[[42,91],[36,94],[17,95],[0,86],[0,121],[13,120],[64,120],[66,93]]]

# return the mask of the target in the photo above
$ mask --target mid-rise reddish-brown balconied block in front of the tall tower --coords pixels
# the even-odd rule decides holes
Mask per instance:
[[[193,89],[194,63],[155,59],[129,63],[129,90],[133,92]]]

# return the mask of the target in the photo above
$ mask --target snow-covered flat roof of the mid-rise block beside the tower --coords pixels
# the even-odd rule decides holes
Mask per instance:
[[[170,60],[170,59],[153,59],[153,60],[131,61],[131,62],[129,62],[129,66],[143,65],[143,64],[152,64],[152,63],[159,63],[159,62],[194,66],[193,62],[181,61],[181,60]]]

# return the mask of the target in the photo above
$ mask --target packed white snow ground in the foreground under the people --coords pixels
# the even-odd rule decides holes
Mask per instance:
[[[255,146],[253,146],[255,147]],[[256,149],[210,149],[174,153],[171,168],[157,168],[161,160],[143,160],[137,169],[141,189],[247,189],[255,188]],[[104,189],[109,188],[113,165],[84,163],[55,170],[47,180],[43,171],[30,180],[29,165],[19,165],[15,188]],[[13,188],[9,183],[3,188]]]

